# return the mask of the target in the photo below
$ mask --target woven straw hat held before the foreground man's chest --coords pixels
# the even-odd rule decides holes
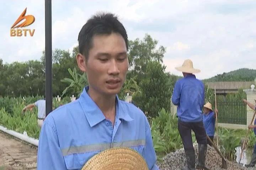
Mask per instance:
[[[148,170],[144,158],[130,148],[111,148],[94,155],[81,170]]]

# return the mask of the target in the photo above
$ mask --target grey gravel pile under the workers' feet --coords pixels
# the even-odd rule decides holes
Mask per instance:
[[[196,165],[198,162],[198,145],[194,145],[195,153],[196,153]],[[256,170],[255,168],[246,168],[242,165],[238,165],[238,163],[230,162],[227,160],[228,170]],[[179,170],[183,166],[186,166],[186,157],[184,149],[179,149],[176,152],[172,152],[167,154],[161,163],[158,163],[159,168],[161,170]],[[208,145],[207,155],[206,155],[206,167],[210,170],[224,170],[222,169],[222,158],[215,151],[213,147]]]

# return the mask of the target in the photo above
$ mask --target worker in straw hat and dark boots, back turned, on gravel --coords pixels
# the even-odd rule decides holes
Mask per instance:
[[[192,143],[191,130],[196,135],[198,143],[197,169],[205,167],[205,155],[207,151],[206,132],[202,121],[202,108],[204,105],[204,84],[196,79],[193,73],[200,70],[193,68],[191,60],[185,60],[181,67],[176,67],[183,73],[184,78],[177,80],[172,95],[172,103],[177,107],[178,131],[184,146],[187,167],[182,170],[195,169],[195,153]]]

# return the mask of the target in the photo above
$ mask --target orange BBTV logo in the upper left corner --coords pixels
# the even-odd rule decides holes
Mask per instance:
[[[20,17],[15,21],[15,23],[12,25],[10,29],[10,35],[11,36],[27,36],[27,32],[30,34],[30,36],[34,35],[35,29],[18,29],[18,28],[23,28],[27,27],[31,24],[34,23],[35,17],[33,15],[26,15],[27,8],[21,13]],[[20,23],[22,20],[24,20],[22,23]],[[15,29],[16,28],[16,29]],[[22,34],[23,33],[23,34]]]

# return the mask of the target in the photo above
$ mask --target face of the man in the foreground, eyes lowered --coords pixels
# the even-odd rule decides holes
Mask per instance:
[[[95,35],[85,62],[90,87],[104,95],[118,94],[129,67],[123,37],[117,33]]]

